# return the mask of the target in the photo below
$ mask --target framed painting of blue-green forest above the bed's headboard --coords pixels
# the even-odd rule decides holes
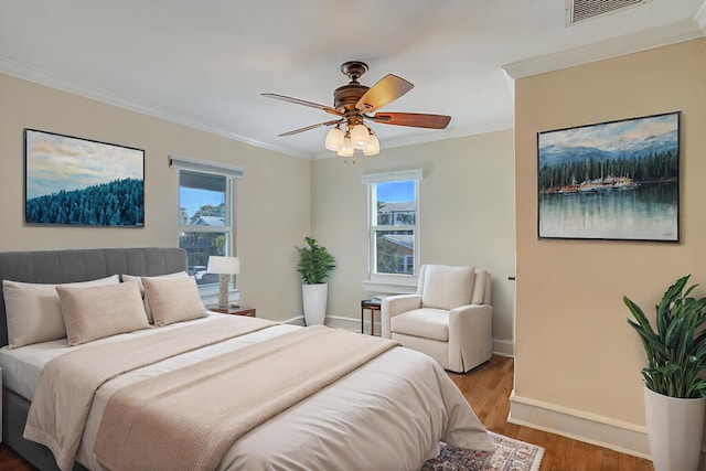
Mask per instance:
[[[145,226],[145,151],[24,129],[24,222]]]

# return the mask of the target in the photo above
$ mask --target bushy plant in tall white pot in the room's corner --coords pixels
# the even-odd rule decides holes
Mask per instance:
[[[297,271],[301,274],[301,299],[307,325],[322,324],[327,312],[327,298],[331,271],[335,259],[325,247],[311,237],[304,237],[306,247],[296,247],[299,253]]]

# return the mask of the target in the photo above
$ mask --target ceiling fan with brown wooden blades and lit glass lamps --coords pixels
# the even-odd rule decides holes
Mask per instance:
[[[329,121],[284,132],[279,137],[292,136],[322,126],[335,126],[327,135],[327,149],[333,150],[345,158],[353,157],[355,149],[362,150],[364,156],[375,156],[379,152],[379,140],[373,129],[365,122],[366,120],[382,125],[428,129],[443,129],[451,120],[450,116],[420,113],[375,113],[370,115],[409,92],[414,85],[397,75],[388,74],[372,87],[365,86],[357,79],[367,72],[367,64],[360,61],[343,63],[341,72],[351,82],[333,90],[332,107],[285,95],[261,94],[265,97],[318,108],[336,117]]]

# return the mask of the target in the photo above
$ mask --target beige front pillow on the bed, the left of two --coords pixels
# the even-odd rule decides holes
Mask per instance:
[[[137,282],[88,288],[56,287],[68,346],[149,329]]]

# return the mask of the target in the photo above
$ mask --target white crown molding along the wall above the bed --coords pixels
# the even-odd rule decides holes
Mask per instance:
[[[142,115],[151,116],[164,121],[186,126],[189,128],[210,132],[246,144],[284,153],[290,157],[297,157],[299,159],[310,158],[310,156],[306,152],[298,152],[285,147],[271,146],[256,139],[242,136],[237,132],[233,132],[229,129],[226,129],[205,119],[196,118],[180,111],[174,111],[172,109],[162,108],[153,104],[148,104],[127,95],[121,95],[103,88],[88,86],[60,74],[54,74],[52,72],[47,72],[38,67],[20,64],[17,61],[4,56],[0,56],[0,73],[23,81],[32,82],[38,85],[43,85],[50,88],[55,88],[62,92],[77,95],[84,98],[100,101],[106,105],[111,105],[130,111],[140,113]]]

